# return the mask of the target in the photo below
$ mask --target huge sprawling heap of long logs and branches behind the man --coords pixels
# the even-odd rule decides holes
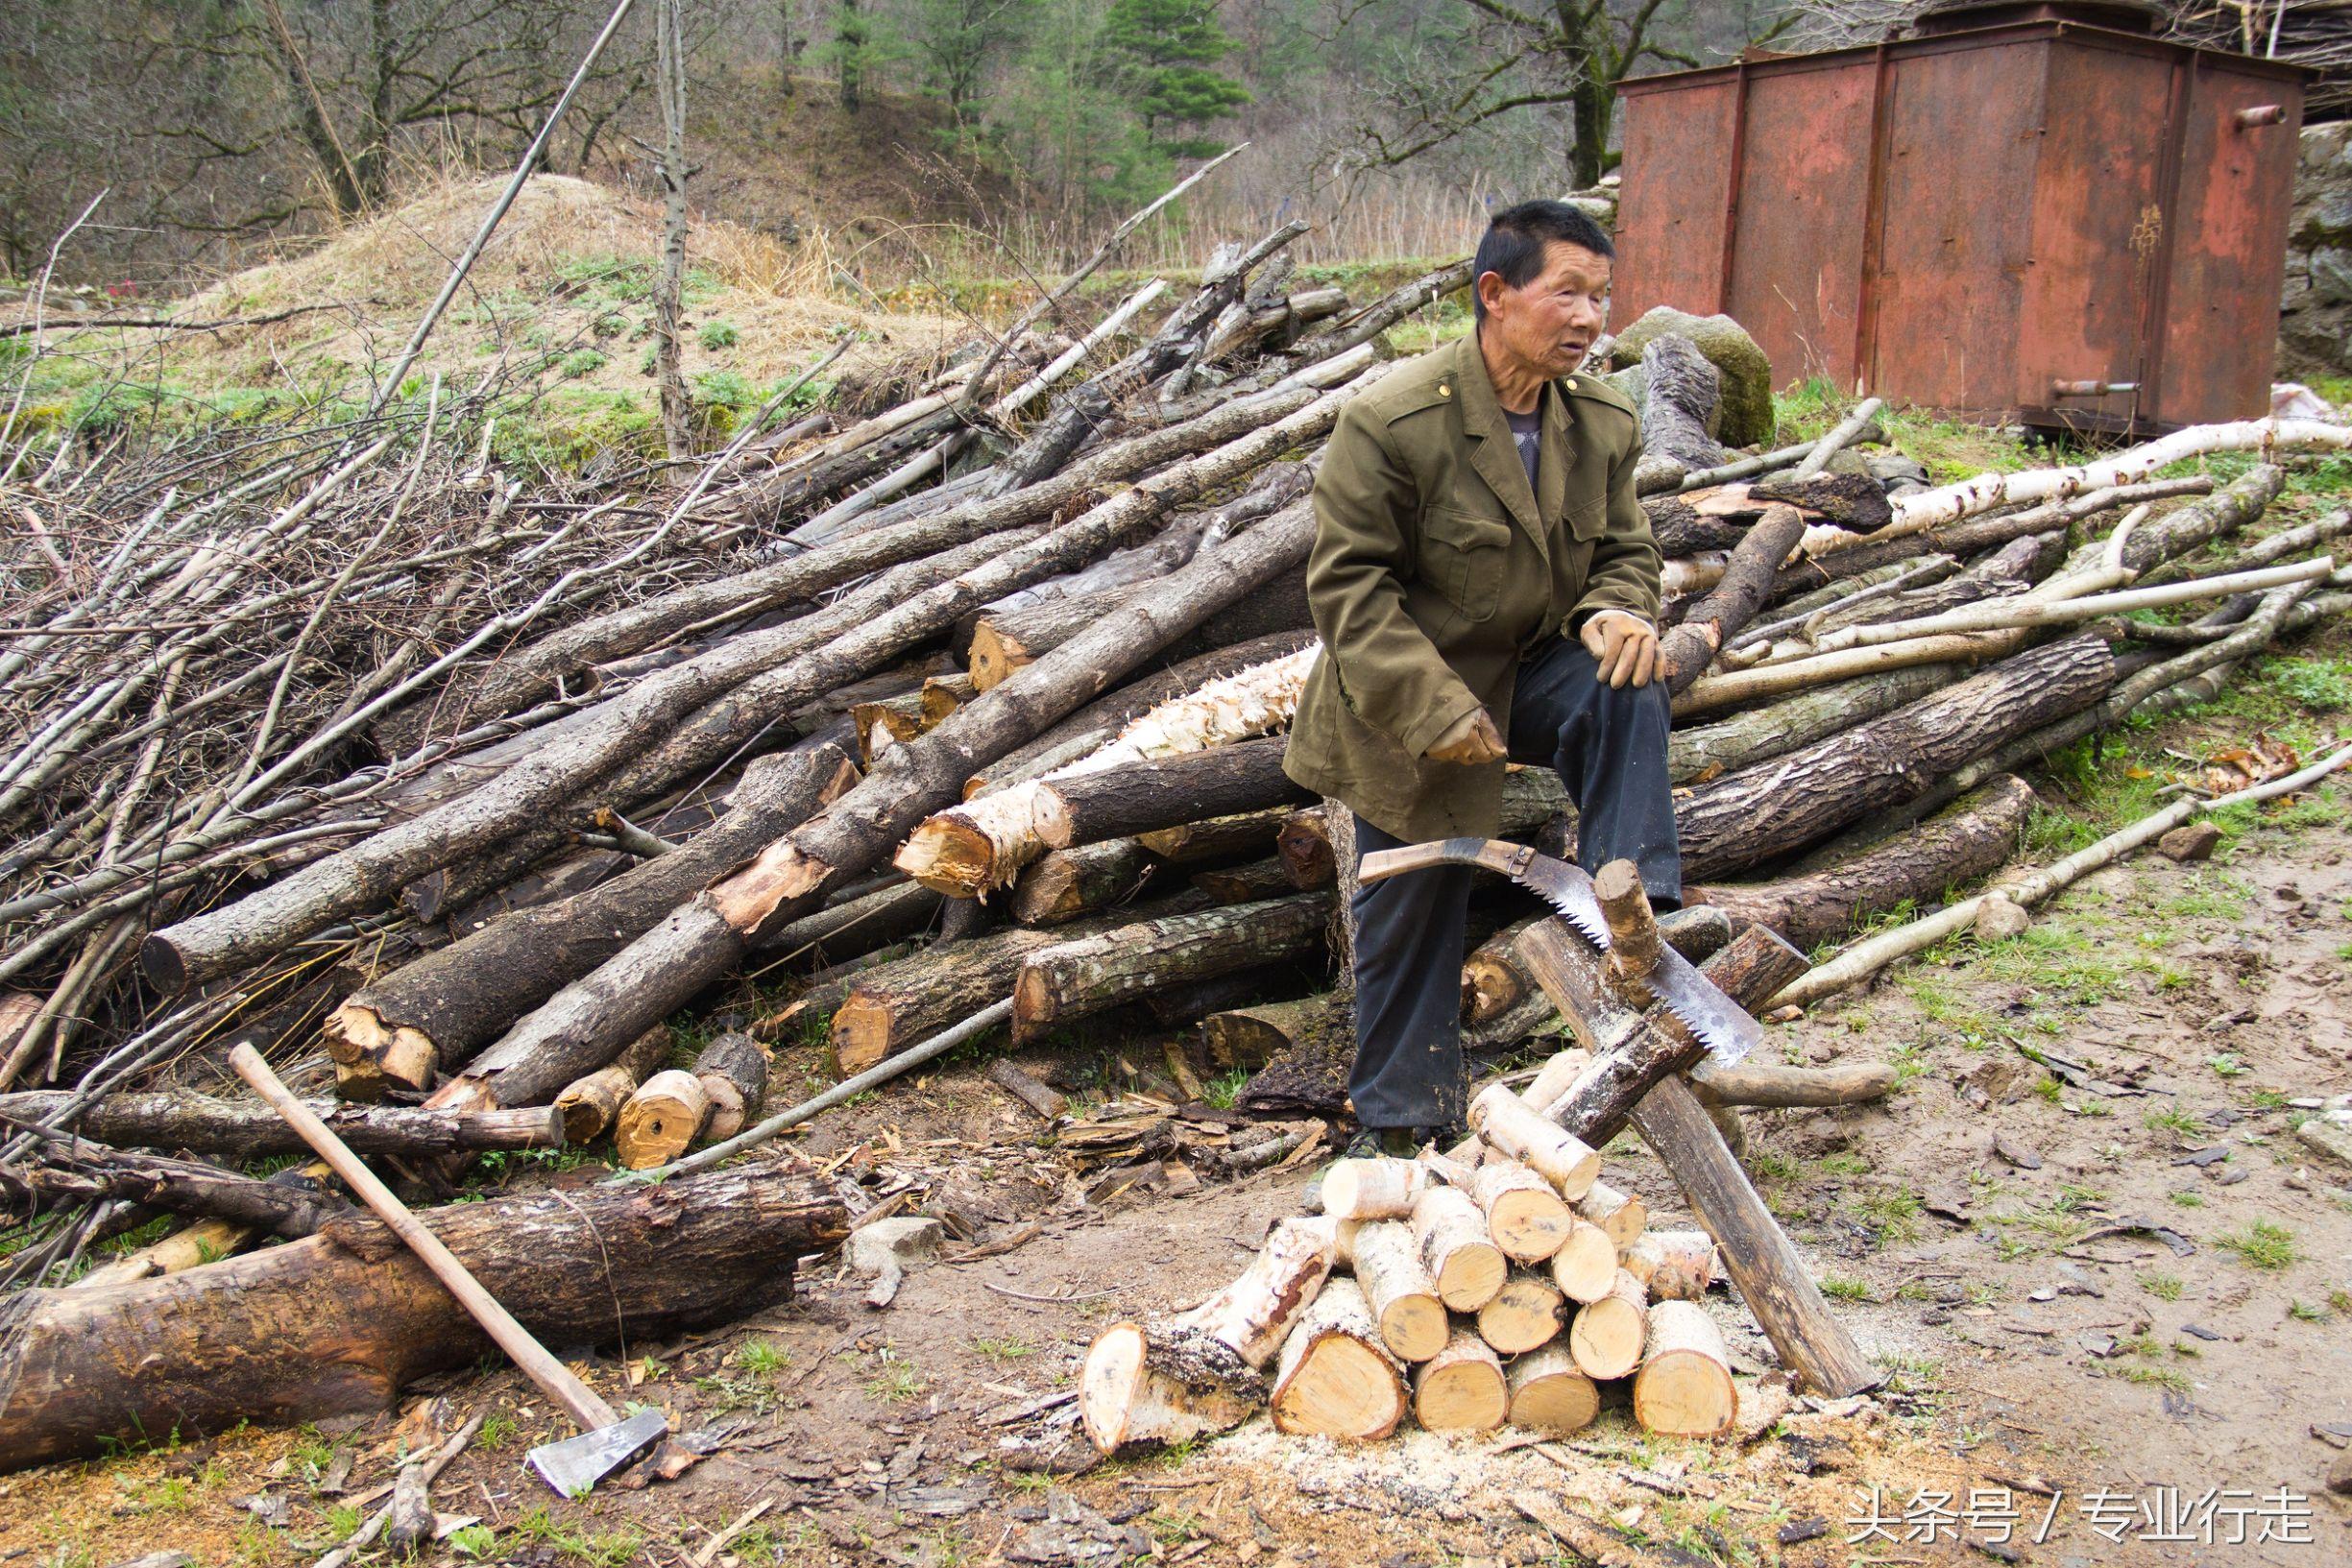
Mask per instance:
[[[1030,1041],[1150,1004],[1204,1020],[1221,1063],[1272,1058],[1244,1105],[1329,1110],[1343,1001],[1287,978],[1327,961],[1352,865],[1279,766],[1312,661],[1305,491],[1378,339],[1468,266],[1352,306],[1294,284],[1301,230],[1228,247],[1171,308],[1152,284],[1075,320],[1056,289],[943,369],[755,418],[675,475],[527,484],[433,397],[16,451],[9,1284],[64,1279],[155,1215],[219,1229],[132,1260],[146,1279],[115,1269],[96,1307],[92,1286],[9,1298],[0,1389],[31,1387],[9,1380],[35,1345],[64,1380],[5,1396],[0,1460],[87,1450],[167,1406],[310,1415],[421,1371],[407,1326],[428,1305],[376,1300],[341,1201],[228,1168],[292,1147],[212,1093],[235,1039],[414,1173],[612,1131],[623,1164],[668,1175],[602,1199],[607,1239],[649,1227],[649,1321],[741,1309],[774,1281],[729,1260],[840,1229],[793,1161],[715,1171],[724,1152],[1000,1023]],[[1656,433],[1689,393],[1672,343],[1649,350]],[[1653,440],[1642,470],[1675,588],[1696,900],[1799,945],[1999,865],[2030,799],[2011,769],[2352,602],[2321,555],[2343,520],[2230,543],[2277,468],[2152,482],[2206,451],[2340,449],[2338,428],[2206,428],[1898,494],[1837,458],[1870,435],[1865,411],[1715,468]],[[2131,618],[2171,604],[2209,609]],[[1573,837],[1541,769],[1510,776],[1505,816],[1510,837]],[[1898,816],[1917,827],[1780,872]],[[1515,936],[1465,969],[1486,1044],[1557,1027]],[[748,964],[795,973],[800,999],[673,1051],[663,1025]],[[804,1027],[844,1081],[779,1110],[769,1044]],[[734,1225],[661,1229],[713,1182]],[[440,1213],[489,1246],[494,1227]],[[174,1272],[266,1237],[299,1241]],[[569,1324],[553,1281],[581,1246],[492,1248],[485,1276],[524,1321],[539,1302]],[[169,1396],[71,1380],[64,1347],[108,1314],[183,1324],[169,1354],[202,1380],[261,1331],[238,1298],[263,1291],[336,1305],[318,1333],[362,1347],[339,1389],[270,1382],[299,1359]],[[369,1312],[381,1331],[358,1328]]]

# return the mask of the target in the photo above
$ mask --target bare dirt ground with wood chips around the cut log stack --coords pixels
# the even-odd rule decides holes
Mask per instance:
[[[946,1194],[1014,1246],[910,1276],[889,1309],[823,1260],[788,1307],[595,1361],[614,1399],[659,1399],[717,1441],[687,1476],[557,1502],[520,1467],[562,1434],[546,1401],[510,1371],[459,1375],[405,1422],[0,1481],[0,1563],[310,1561],[402,1446],[470,1413],[487,1427],[435,1493],[454,1516],[437,1561],[1578,1563],[1550,1528],[1571,1509],[1623,1533],[1632,1563],[2345,1563],[2352,1507],[2324,1474],[2352,1436],[2352,1173],[2291,1131],[2293,1100],[2352,1088],[2340,802],[2209,865],[2110,867],[2025,938],[1931,954],[1773,1030],[1790,1060],[1905,1074],[1884,1105],[1750,1112],[1766,1199],[1889,1373],[1875,1396],[1790,1401],[1717,1295],[1733,1439],[1653,1439],[1606,1410],[1564,1441],[1341,1448],[1261,1420],[1094,1462],[1070,1406],[1089,1338],[1223,1284],[1315,1161],[1089,1197],[1042,1124],[957,1065],[797,1147],[863,1171],[870,1197]],[[1606,1175],[1677,1222],[1630,1138]]]

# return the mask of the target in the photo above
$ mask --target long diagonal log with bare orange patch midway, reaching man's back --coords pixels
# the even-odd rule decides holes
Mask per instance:
[[[1329,416],[1336,418],[1336,409]],[[1319,414],[1305,428],[1322,418]],[[1279,440],[1301,440],[1305,428],[1275,425],[1275,433]],[[1244,468],[1258,456],[1261,449],[1244,442],[1242,451],[1221,454],[1221,463]],[[1209,484],[1216,473],[1221,470],[1200,470],[1188,482]],[[1134,494],[1138,491],[1129,491]],[[833,886],[873,870],[915,823],[957,799],[962,783],[988,759],[1108,689],[1148,656],[1155,639],[1188,630],[1216,607],[1305,559],[1310,541],[1310,517],[1284,512],[1268,520],[1223,548],[1202,552],[1087,637],[964,703],[938,729],[891,748],[861,785],[816,818],[769,844],[743,870],[703,889],[694,903],[673,910],[602,969],[520,1020],[463,1077],[435,1091],[435,1100],[513,1105],[524,1095],[550,1095],[574,1077],[602,1067],[640,1030],[668,1018],[727,973],[762,931],[807,914]]]

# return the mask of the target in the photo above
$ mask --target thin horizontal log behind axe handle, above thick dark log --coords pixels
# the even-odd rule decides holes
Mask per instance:
[[[64,1088],[0,1095],[0,1117],[47,1121],[73,1098]],[[541,1107],[466,1114],[414,1105],[318,1100],[310,1110],[360,1154],[430,1159],[485,1150],[548,1150],[564,1143],[562,1124]],[[181,1088],[106,1095],[92,1100],[68,1126],[115,1147],[188,1150],[191,1154],[223,1154],[238,1161],[299,1154],[310,1147],[259,1100],[216,1100]]]

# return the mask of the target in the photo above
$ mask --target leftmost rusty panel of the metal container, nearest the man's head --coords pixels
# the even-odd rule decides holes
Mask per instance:
[[[1625,120],[1625,165],[1653,169],[1628,183],[1618,202],[1618,263],[1611,317],[1632,322],[1651,306],[1715,310],[1722,296],[1724,233],[1731,214],[1731,132],[1738,125],[1738,78],[1675,92],[1663,115]]]

